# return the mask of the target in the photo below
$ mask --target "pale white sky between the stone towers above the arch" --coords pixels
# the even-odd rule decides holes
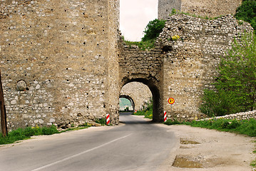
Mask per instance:
[[[158,18],[158,0],[120,0],[120,30],[128,41],[140,41],[149,21]]]

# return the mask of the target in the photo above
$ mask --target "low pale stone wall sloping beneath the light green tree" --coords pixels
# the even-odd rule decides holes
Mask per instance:
[[[250,118],[256,119],[256,110],[250,112],[235,113],[231,115],[217,116],[215,119],[236,119],[236,120],[250,120]],[[203,120],[210,120],[213,118],[205,118]]]

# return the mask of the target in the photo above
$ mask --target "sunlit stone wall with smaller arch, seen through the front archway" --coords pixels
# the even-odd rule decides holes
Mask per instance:
[[[133,99],[135,105],[134,110],[143,110],[150,101],[150,98],[152,98],[152,93],[148,86],[138,82],[128,83],[123,86],[120,95],[128,96]]]

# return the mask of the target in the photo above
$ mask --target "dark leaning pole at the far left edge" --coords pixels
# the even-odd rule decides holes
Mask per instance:
[[[1,130],[3,136],[6,137],[8,135],[7,130],[7,120],[6,120],[6,108],[4,105],[4,91],[1,84],[1,70],[0,70],[0,108],[1,108]]]

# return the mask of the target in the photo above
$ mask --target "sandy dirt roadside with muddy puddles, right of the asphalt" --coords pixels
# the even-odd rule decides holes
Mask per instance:
[[[255,138],[188,125],[161,125],[180,138],[160,171],[252,171]]]

